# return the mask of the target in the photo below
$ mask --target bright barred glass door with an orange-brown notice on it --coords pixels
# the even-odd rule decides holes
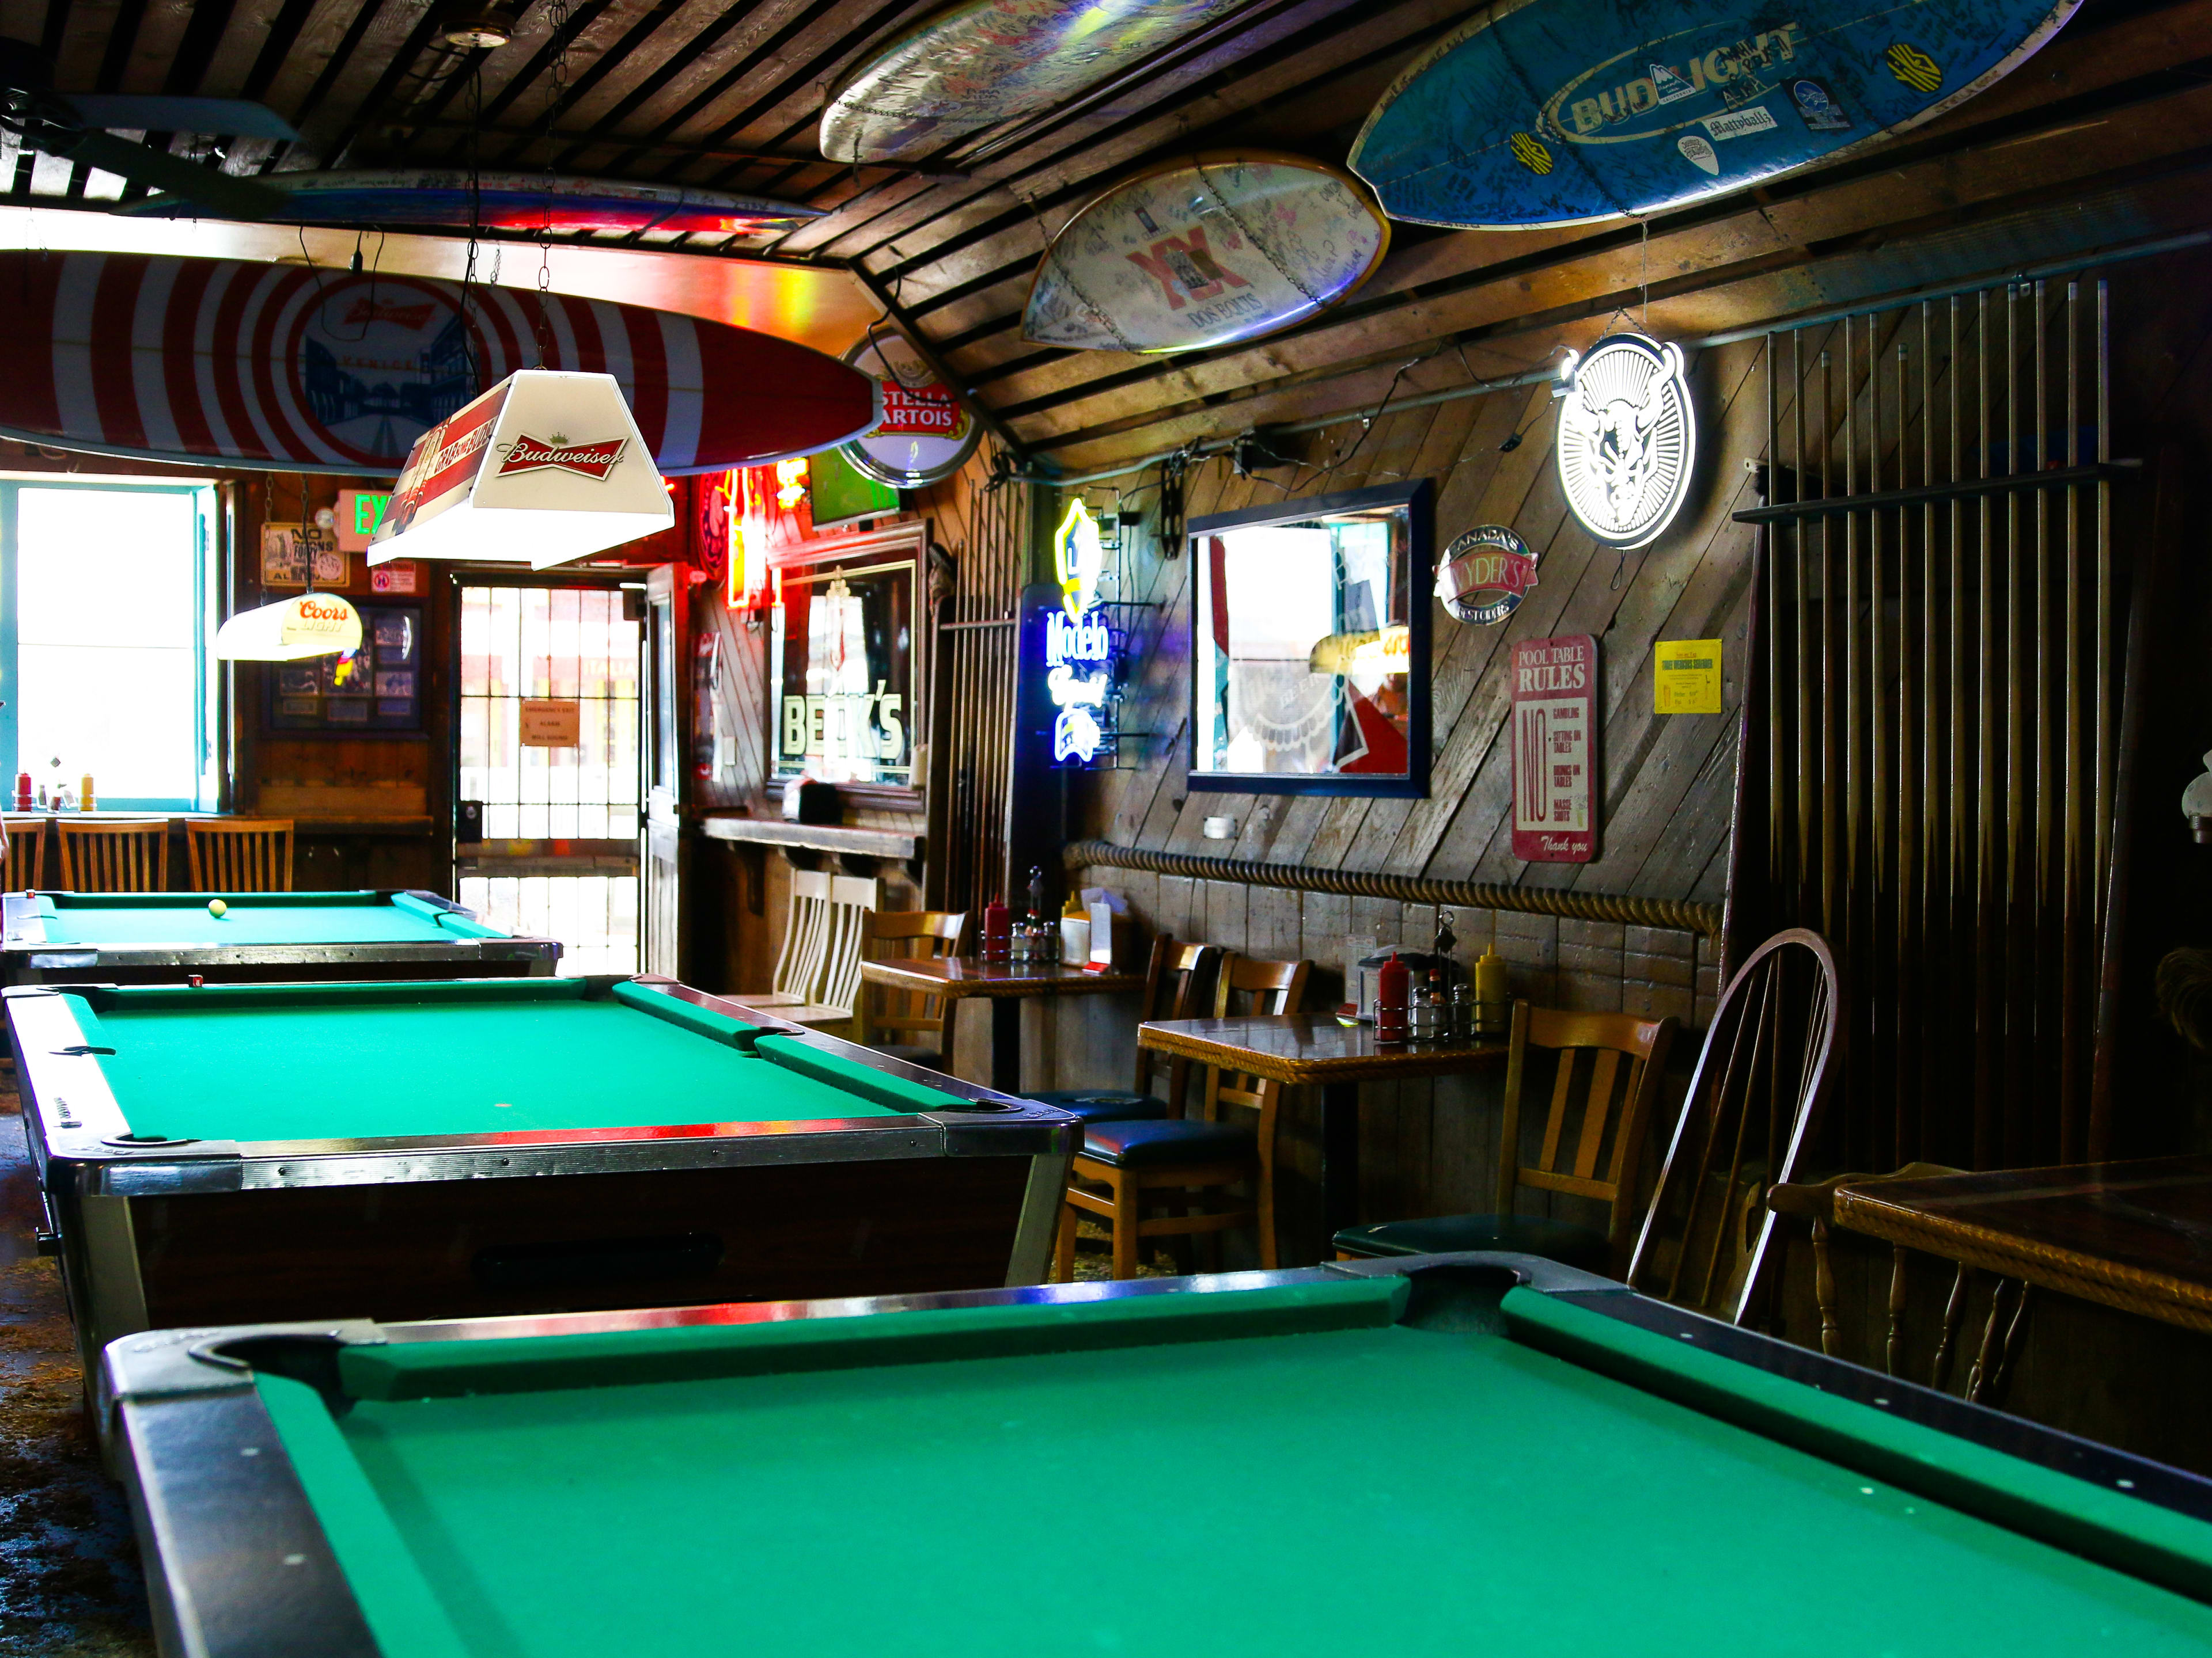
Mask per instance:
[[[453,880],[562,973],[637,973],[644,606],[613,581],[460,581]]]

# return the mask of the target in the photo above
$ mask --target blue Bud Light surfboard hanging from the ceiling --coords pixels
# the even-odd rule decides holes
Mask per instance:
[[[1383,93],[1352,170],[1394,219],[1564,225],[1741,190],[2017,69],[2079,0],[1500,0]]]

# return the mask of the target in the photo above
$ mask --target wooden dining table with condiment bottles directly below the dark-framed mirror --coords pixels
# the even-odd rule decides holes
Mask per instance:
[[[1360,1083],[1451,1077],[1506,1057],[1498,1039],[1376,1041],[1371,1024],[1347,1026],[1332,1012],[1155,1019],[1137,1026],[1137,1043],[1201,1066],[1321,1088],[1321,1216],[1332,1238],[1358,1222]]]

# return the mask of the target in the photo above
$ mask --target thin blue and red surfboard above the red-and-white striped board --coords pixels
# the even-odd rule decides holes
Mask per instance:
[[[770,197],[697,190],[628,179],[573,179],[544,172],[484,172],[476,199],[467,172],[425,168],[352,172],[270,172],[254,179],[285,197],[276,223],[301,225],[447,225],[484,230],[661,230],[754,237],[821,219],[821,208]],[[150,219],[195,219],[204,208],[181,197],[146,197],[124,212]],[[473,219],[471,219],[473,212]]]

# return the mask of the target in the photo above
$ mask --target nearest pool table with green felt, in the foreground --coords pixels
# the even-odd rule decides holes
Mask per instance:
[[[2212,1486],[1528,1256],[106,1353],[164,1651],[2212,1647]]]

